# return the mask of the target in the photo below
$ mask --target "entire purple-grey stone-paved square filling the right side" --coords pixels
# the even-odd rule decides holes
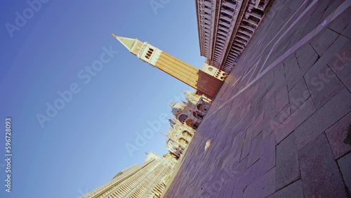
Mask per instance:
[[[350,6],[274,1],[164,197],[350,197]]]

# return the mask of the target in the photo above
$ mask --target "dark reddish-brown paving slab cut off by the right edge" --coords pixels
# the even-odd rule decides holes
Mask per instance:
[[[351,112],[336,124],[326,129],[331,150],[335,159],[351,151]]]

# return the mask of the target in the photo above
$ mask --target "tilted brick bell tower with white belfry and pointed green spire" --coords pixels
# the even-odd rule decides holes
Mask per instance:
[[[153,67],[170,74],[172,77],[183,81],[185,84],[197,89],[198,94],[205,94],[214,98],[223,84],[223,80],[213,77],[208,72],[203,72],[186,62],[161,51],[147,42],[125,37],[112,37],[118,39],[128,51],[136,55],[140,60],[149,63]]]

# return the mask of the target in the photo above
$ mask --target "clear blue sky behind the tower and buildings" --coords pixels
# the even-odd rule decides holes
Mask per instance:
[[[194,1],[170,0],[156,14],[148,0],[48,1],[34,13],[25,1],[0,7],[0,197],[79,197],[142,163],[145,152],[167,152],[157,133],[133,157],[126,143],[135,144],[147,121],[171,114],[166,103],[192,89],[133,57],[111,34],[148,41],[201,67]],[[27,22],[14,27],[15,13],[23,11]],[[12,38],[6,23],[15,28]],[[100,60],[103,46],[119,53],[84,84],[79,71]],[[79,93],[42,128],[37,114],[46,115],[46,103],[72,84]],[[6,117],[12,119],[11,193],[4,186]]]

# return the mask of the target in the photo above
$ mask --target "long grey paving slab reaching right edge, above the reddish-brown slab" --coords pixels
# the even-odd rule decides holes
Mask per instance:
[[[343,88],[317,112],[295,129],[298,149],[324,132],[351,110],[351,93]]]

